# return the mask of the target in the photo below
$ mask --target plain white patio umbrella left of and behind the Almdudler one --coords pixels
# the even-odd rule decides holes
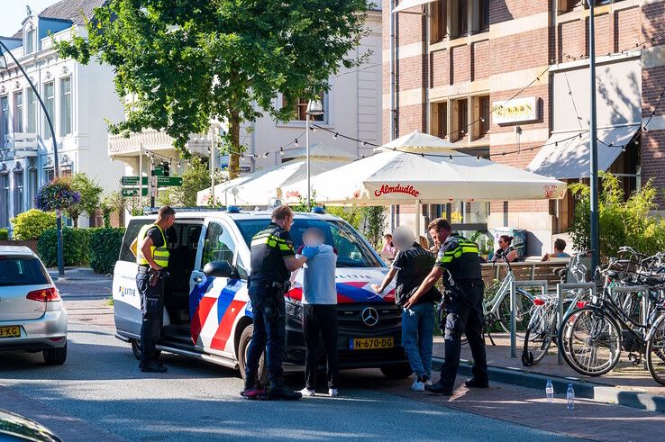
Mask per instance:
[[[283,199],[286,195],[282,187],[304,180],[307,163],[305,149],[287,151],[286,163],[258,170],[250,175],[221,183],[214,186],[217,203],[224,205],[263,206],[270,198]],[[317,143],[310,148],[310,172],[316,176],[335,167],[343,166],[355,158],[349,152]],[[211,197],[210,189],[196,195],[196,203],[205,205]],[[296,198],[297,199],[297,198]]]

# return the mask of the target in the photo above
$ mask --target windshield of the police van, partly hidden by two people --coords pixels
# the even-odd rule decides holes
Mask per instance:
[[[242,238],[251,245],[251,239],[260,230],[268,226],[268,220],[234,220],[240,229]],[[323,231],[325,243],[337,249],[338,267],[382,267],[376,254],[369,248],[356,230],[341,221],[299,220],[294,221],[289,233],[294,245],[299,248],[303,244],[303,232],[310,227]]]

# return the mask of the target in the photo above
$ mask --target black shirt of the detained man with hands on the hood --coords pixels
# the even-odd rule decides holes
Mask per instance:
[[[397,253],[392,267],[397,270],[395,278],[395,300],[397,305],[403,305],[414,291],[420,287],[434,265],[434,254],[425,250],[420,244],[414,242],[411,248]],[[438,299],[437,299],[438,298]],[[435,288],[424,293],[415,304],[435,302],[441,299],[441,293]]]

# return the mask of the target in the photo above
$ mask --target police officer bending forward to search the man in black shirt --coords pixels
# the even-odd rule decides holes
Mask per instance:
[[[441,379],[425,390],[450,396],[460,365],[461,334],[469,340],[473,356],[473,377],[465,384],[470,388],[487,388],[487,356],[483,329],[483,290],[478,246],[452,231],[451,223],[442,218],[432,221],[430,234],[442,245],[436,264],[430,275],[411,296],[405,308],[417,302],[447,271],[443,278],[446,285],[446,307],[448,316],[445,326],[445,361],[441,368]]]

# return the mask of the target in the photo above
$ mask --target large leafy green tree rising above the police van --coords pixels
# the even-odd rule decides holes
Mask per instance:
[[[228,122],[234,178],[242,122],[262,112],[287,121],[299,97],[360,65],[364,57],[349,54],[366,33],[367,9],[367,0],[109,0],[86,24],[87,39],[54,43],[60,57],[113,66],[118,95],[135,97],[114,133],[166,131],[188,158],[190,133]]]

